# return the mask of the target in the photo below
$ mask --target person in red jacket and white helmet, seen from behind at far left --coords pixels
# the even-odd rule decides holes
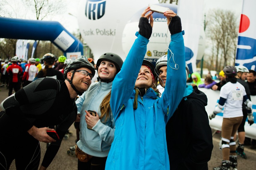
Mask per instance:
[[[12,95],[12,89],[14,88],[15,92],[20,89],[20,75],[23,73],[22,68],[17,65],[18,57],[14,56],[11,59],[12,65],[6,69],[6,72],[9,74],[9,93]]]

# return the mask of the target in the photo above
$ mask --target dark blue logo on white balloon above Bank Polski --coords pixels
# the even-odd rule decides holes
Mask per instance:
[[[85,16],[88,19],[100,19],[105,14],[106,0],[87,0]]]

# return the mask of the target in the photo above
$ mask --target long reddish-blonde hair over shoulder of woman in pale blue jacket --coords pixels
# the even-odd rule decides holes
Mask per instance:
[[[110,112],[111,112],[111,108],[110,108],[110,97],[111,97],[111,90],[110,92],[108,92],[108,94],[103,98],[101,104],[100,104],[100,112],[101,112],[101,116],[100,119],[102,119],[105,116],[105,120],[102,122],[106,122],[109,118],[110,118]]]

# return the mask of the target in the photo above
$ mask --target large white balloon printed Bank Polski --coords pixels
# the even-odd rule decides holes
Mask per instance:
[[[158,2],[158,0],[81,0],[78,8],[78,25],[83,39],[93,52],[94,60],[98,60],[106,52],[116,53],[124,60],[126,55],[121,43],[124,26],[139,9],[145,9],[149,3]]]

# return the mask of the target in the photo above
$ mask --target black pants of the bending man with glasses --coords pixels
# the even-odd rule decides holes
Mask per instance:
[[[14,128],[6,114],[0,115],[0,169],[9,169],[13,160],[17,170],[37,170],[41,158],[39,141]]]

